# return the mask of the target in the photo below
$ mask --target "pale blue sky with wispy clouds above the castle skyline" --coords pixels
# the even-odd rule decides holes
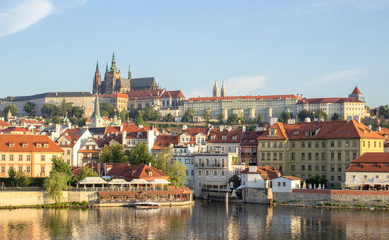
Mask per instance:
[[[0,0],[0,97],[90,91],[112,60],[166,90],[389,104],[389,0]]]

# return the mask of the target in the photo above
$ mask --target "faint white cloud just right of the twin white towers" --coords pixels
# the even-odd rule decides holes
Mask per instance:
[[[233,95],[259,95],[260,88],[267,84],[267,76],[241,76],[238,78],[228,78],[224,81],[227,96]],[[221,88],[221,83],[219,83]]]

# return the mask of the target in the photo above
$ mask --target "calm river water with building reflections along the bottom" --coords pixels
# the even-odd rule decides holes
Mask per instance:
[[[152,210],[0,210],[0,239],[388,239],[389,212],[196,200]]]

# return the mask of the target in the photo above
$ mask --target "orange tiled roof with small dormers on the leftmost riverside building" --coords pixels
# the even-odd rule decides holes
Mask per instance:
[[[11,147],[13,143],[13,147]],[[27,145],[23,147],[23,145]],[[40,143],[40,148],[37,147]],[[47,144],[47,148],[45,148]],[[29,135],[29,134],[0,134],[0,151],[2,152],[58,152],[64,150],[54,143],[46,135]]]

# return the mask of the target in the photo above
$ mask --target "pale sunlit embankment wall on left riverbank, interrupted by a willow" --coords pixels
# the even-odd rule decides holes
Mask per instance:
[[[95,203],[98,199],[98,193],[95,191],[63,191],[63,202],[82,202]],[[0,206],[21,206],[54,203],[45,191],[0,191]]]

